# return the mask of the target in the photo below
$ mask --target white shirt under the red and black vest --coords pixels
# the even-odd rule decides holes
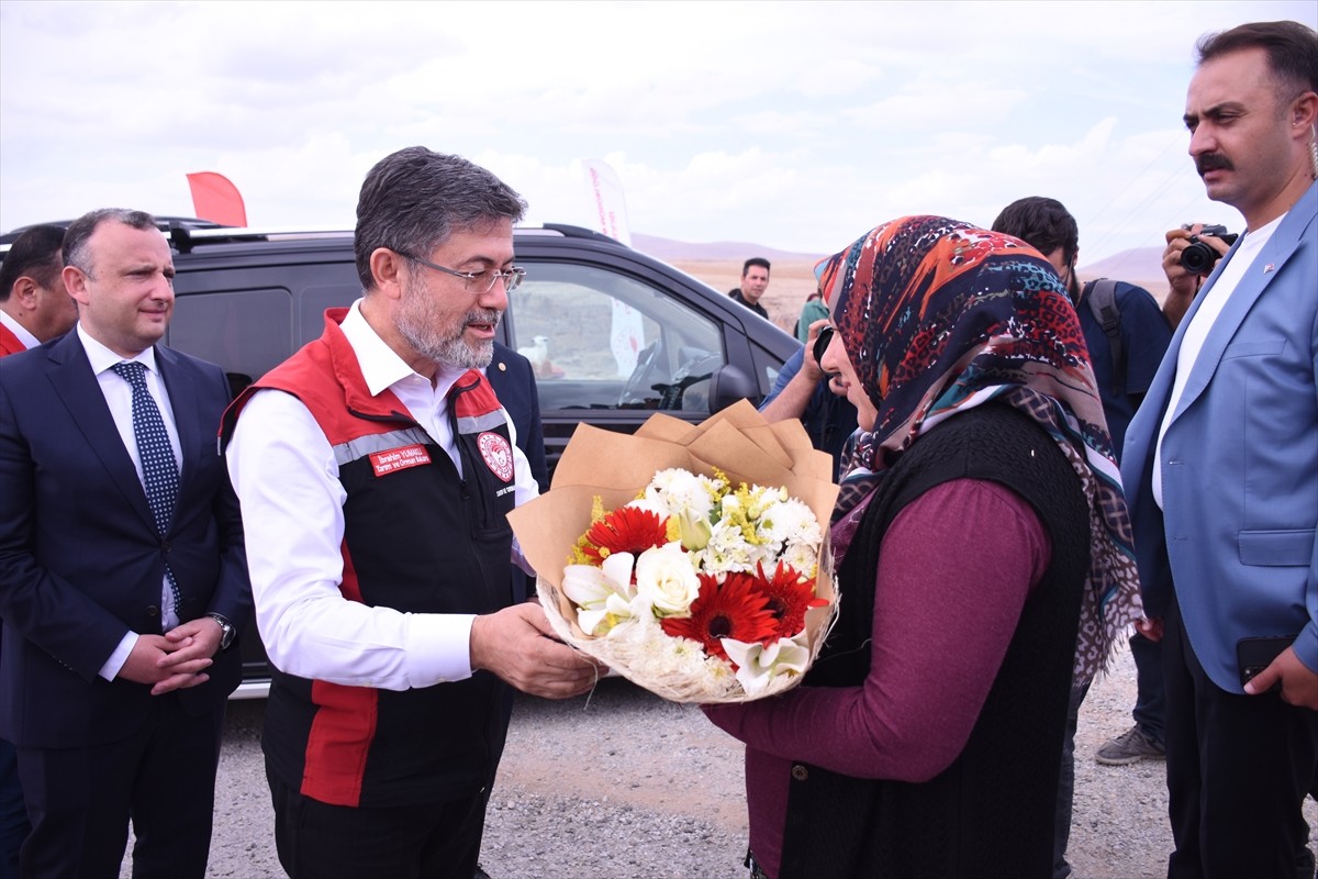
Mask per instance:
[[[393,390],[461,473],[447,395],[467,370],[442,369],[432,385],[370,328],[360,299],[341,327],[370,393]],[[348,496],[330,441],[299,399],[257,391],[243,409],[225,456],[243,503],[257,627],[277,668],[393,691],[471,677],[473,614],[403,613],[349,601],[339,592]],[[539,490],[515,444],[513,459],[514,498],[522,503]],[[521,561],[515,544],[513,560]]]

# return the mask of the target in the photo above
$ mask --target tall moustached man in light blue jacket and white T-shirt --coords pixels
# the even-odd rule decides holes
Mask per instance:
[[[1301,804],[1318,770],[1315,71],[1318,34],[1298,22],[1201,40],[1190,156],[1209,198],[1240,210],[1247,233],[1181,322],[1122,457],[1147,634],[1165,635],[1176,879],[1290,879],[1297,853],[1310,857]],[[1238,646],[1278,635],[1276,659],[1243,685]]]

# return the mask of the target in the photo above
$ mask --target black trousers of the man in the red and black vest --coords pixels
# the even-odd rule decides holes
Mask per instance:
[[[456,801],[389,808],[330,805],[266,766],[274,845],[290,879],[472,879],[489,789]]]

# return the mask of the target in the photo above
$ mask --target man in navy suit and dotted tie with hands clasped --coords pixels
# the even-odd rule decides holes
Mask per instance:
[[[228,382],[156,345],[174,265],[150,215],[88,213],[63,257],[78,327],[0,361],[0,735],[33,825],[21,871],[117,875],[132,820],[134,876],[200,879],[252,601],[215,447]]]

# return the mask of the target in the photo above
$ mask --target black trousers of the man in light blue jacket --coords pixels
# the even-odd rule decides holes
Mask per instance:
[[[1217,687],[1174,597],[1166,615],[1168,879],[1294,879],[1309,841],[1301,805],[1318,768],[1318,712],[1280,693]]]

